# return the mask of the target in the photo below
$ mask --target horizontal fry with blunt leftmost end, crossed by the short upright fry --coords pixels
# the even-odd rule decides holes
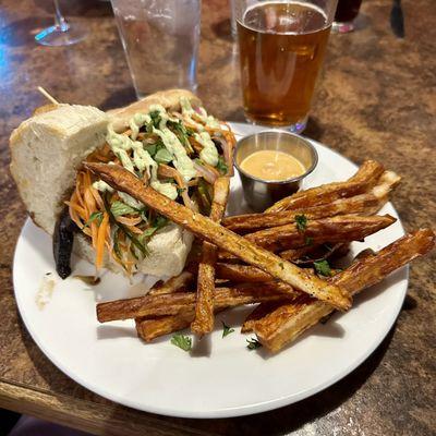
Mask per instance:
[[[253,283],[239,284],[234,288],[217,288],[214,307],[218,310],[262,301],[293,300],[300,295],[301,292],[294,291],[286,283],[263,283],[262,287]],[[195,300],[195,292],[175,292],[116,300],[97,304],[97,319],[100,323],[107,323],[118,319],[177,315],[184,311],[194,310]]]

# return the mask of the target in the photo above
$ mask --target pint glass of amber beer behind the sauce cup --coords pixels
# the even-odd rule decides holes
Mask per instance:
[[[337,0],[234,0],[245,116],[306,126]]]

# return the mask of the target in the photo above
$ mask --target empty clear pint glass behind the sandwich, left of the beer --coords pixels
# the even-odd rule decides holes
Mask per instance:
[[[195,90],[201,0],[111,0],[137,98]]]

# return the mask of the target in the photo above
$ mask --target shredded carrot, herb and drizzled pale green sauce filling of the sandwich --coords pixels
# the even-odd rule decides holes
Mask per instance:
[[[162,195],[208,215],[215,180],[232,173],[234,144],[225,122],[182,97],[180,111],[153,105],[147,113],[135,113],[125,132],[109,125],[106,144],[86,161],[123,166]],[[90,239],[97,270],[107,253],[132,275],[150,254],[150,238],[168,225],[167,218],[85,169],[77,171],[66,204],[71,219]]]

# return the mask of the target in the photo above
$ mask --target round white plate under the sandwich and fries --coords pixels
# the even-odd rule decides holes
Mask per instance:
[[[256,131],[233,124],[239,134]],[[349,178],[356,167],[337,153],[313,142],[319,165],[306,186]],[[244,208],[238,177],[232,182],[230,211]],[[383,213],[398,218],[388,204]],[[398,220],[353,252],[379,250],[403,234]],[[276,409],[312,396],[344,377],[382,342],[400,311],[408,287],[403,268],[355,299],[347,314],[303,335],[288,349],[270,356],[246,349],[239,328],[221,338],[220,319],[235,326],[246,310],[217,316],[216,330],[186,353],[164,337],[145,344],[131,320],[99,325],[98,299],[125,296],[129,282],[106,274],[95,289],[77,279],[56,278],[51,300],[44,310],[35,303],[46,272],[53,271],[51,240],[27,220],[20,235],[13,266],[15,298],[32,337],[62,372],[86,388],[119,403],[164,415],[225,417]],[[84,261],[75,272],[90,272]],[[249,335],[247,337],[251,337]]]

